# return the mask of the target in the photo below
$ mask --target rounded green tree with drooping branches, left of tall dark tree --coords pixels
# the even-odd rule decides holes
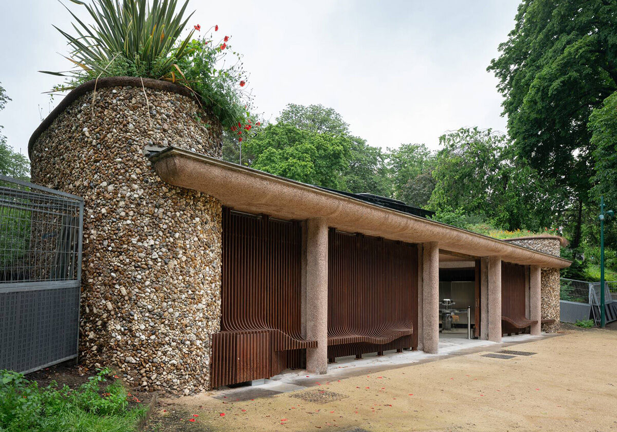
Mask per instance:
[[[461,128],[442,135],[439,143],[431,210],[453,209],[508,230],[549,225],[556,207],[552,188],[514,154],[507,136]]]

